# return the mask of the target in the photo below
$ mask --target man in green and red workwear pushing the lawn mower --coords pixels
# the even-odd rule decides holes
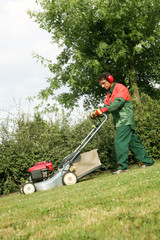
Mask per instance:
[[[118,169],[113,174],[129,170],[129,149],[142,162],[142,167],[153,165],[135,132],[134,113],[128,89],[124,85],[114,82],[112,75],[107,72],[100,74],[98,81],[107,90],[107,96],[104,107],[91,113],[90,117],[101,116],[103,113],[112,113],[113,115],[116,123],[115,151],[118,164]]]

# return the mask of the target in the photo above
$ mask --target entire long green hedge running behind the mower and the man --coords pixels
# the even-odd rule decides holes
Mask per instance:
[[[141,96],[142,105],[133,102],[137,134],[149,156],[158,160],[160,156],[160,101],[152,100],[147,95]],[[103,119],[102,119],[103,120]],[[28,179],[28,168],[36,162],[50,160],[54,171],[67,155],[72,153],[88,135],[94,120],[85,119],[70,126],[68,116],[62,115],[58,121],[46,121],[40,113],[33,119],[25,115],[8,119],[1,125],[0,144],[0,194],[17,191],[19,185]],[[115,128],[112,117],[88,143],[83,152],[98,149],[102,170],[116,166],[114,150]],[[130,164],[137,160],[130,153]]]

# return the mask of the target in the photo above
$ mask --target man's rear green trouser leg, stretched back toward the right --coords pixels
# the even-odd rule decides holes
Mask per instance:
[[[140,162],[144,163],[146,166],[150,166],[153,164],[153,161],[149,158],[146,149],[141,144],[136,132],[132,130],[132,137],[129,144],[129,148],[132,153],[135,155],[136,159]]]

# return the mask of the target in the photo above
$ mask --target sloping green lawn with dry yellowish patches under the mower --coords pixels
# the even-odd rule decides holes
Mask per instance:
[[[160,239],[160,163],[0,198],[0,239]]]

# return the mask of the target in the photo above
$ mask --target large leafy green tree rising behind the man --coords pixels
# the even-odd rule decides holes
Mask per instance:
[[[61,86],[69,93],[60,103],[97,105],[104,95],[97,75],[109,71],[130,88],[137,103],[141,91],[153,95],[160,74],[159,0],[37,0],[41,11],[29,12],[62,47],[57,63],[48,60],[53,78],[41,92],[52,95]],[[44,59],[37,55],[38,58]],[[155,96],[155,94],[154,94]]]

